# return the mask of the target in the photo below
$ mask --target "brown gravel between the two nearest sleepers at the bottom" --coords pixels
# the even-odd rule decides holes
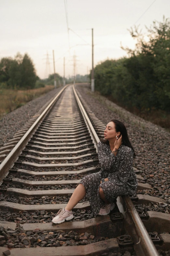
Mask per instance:
[[[20,225],[15,230],[0,227],[0,233],[0,245],[6,244],[8,248],[78,246],[108,239],[108,237],[95,237],[87,232],[78,234],[74,230],[64,232],[62,230],[44,231],[36,229],[24,233]],[[8,240],[6,241],[5,239]]]

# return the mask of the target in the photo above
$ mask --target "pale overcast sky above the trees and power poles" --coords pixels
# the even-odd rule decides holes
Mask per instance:
[[[41,78],[53,73],[52,50],[56,72],[63,76],[65,56],[66,76],[73,75],[73,55],[76,73],[87,74],[92,66],[91,28],[94,28],[94,65],[102,60],[126,56],[120,48],[134,48],[128,28],[153,3],[153,0],[65,0],[68,11],[67,33],[64,0],[0,0],[0,58],[28,53]],[[170,16],[170,0],[156,0],[136,22],[145,31],[154,20]],[[88,45],[77,45],[87,44]],[[70,45],[70,51],[69,51]],[[77,46],[75,46],[77,45]],[[50,64],[47,64],[47,52]],[[49,70],[50,68],[50,70]]]

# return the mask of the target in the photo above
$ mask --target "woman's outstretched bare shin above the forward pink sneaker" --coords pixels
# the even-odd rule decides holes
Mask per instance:
[[[77,186],[77,188],[75,189],[75,191],[73,192],[73,195],[70,197],[70,200],[68,202],[68,204],[66,205],[65,209],[67,211],[71,211],[76,204],[84,198],[84,196],[86,195],[86,190],[85,187],[83,186],[83,184],[79,184]]]

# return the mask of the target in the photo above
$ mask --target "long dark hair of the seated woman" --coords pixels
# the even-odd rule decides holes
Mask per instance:
[[[127,133],[125,125],[122,122],[120,122],[116,119],[112,119],[112,120],[110,120],[110,122],[114,122],[116,132],[120,131],[120,135],[122,135],[122,145],[130,147],[134,151],[134,148],[133,148],[132,144],[129,141],[128,133]],[[106,144],[109,145],[108,140],[101,139],[101,142],[106,143]],[[135,156],[136,156],[136,154],[135,154],[135,151],[134,151],[134,158],[135,158]]]

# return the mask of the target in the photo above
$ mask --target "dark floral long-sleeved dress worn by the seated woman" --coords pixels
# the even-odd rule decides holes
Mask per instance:
[[[113,202],[117,196],[133,194],[137,188],[137,177],[132,167],[133,150],[128,146],[120,145],[115,156],[111,153],[110,145],[101,141],[97,148],[101,170],[85,176],[80,181],[85,187],[86,197],[95,215],[104,204],[99,195],[99,187],[102,187],[109,202]],[[109,181],[100,184],[103,178],[108,178]]]

